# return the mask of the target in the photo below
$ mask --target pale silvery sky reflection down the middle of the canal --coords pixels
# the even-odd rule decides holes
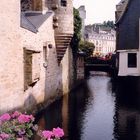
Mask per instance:
[[[94,76],[87,81],[94,101],[87,108],[87,122],[83,124],[82,140],[111,140],[113,138],[114,97],[110,78],[108,76]]]

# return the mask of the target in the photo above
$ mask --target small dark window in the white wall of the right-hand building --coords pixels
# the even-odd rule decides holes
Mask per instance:
[[[128,67],[129,68],[137,67],[137,54],[136,53],[128,53]]]

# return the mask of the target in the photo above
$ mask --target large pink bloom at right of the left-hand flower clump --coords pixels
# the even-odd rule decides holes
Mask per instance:
[[[34,120],[34,117],[32,115],[24,115],[24,114],[21,114],[19,117],[18,117],[18,122],[19,123],[28,123],[30,121],[33,121]]]

